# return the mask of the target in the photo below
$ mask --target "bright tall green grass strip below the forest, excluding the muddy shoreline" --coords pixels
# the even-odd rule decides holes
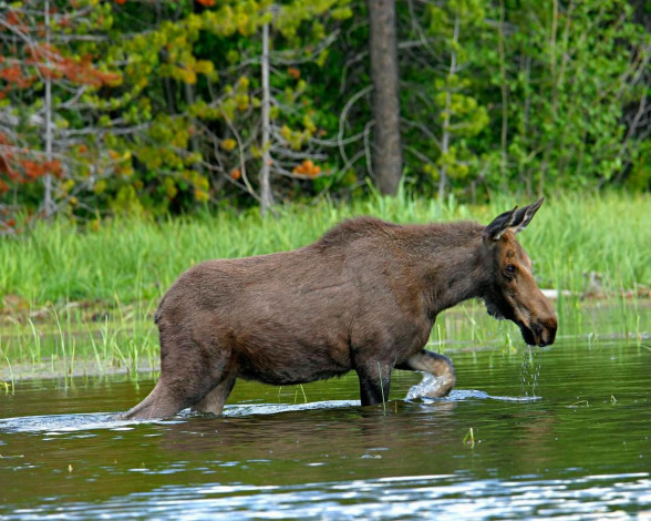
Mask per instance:
[[[276,217],[232,214],[162,223],[114,219],[97,231],[60,221],[0,242],[0,295],[23,305],[134,303],[158,298],[188,266],[216,257],[290,249],[314,241],[343,218],[370,214],[396,222],[489,222],[516,203],[489,207],[431,201],[373,198],[352,205],[289,206]],[[546,202],[519,235],[547,287],[580,290],[583,273],[599,273],[609,287],[651,282],[651,197],[568,196]],[[1,303],[0,303],[1,304]],[[6,304],[7,305],[7,304]]]

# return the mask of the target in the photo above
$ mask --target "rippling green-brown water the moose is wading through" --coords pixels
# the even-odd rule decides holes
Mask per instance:
[[[651,519],[648,340],[447,354],[450,397],[404,400],[420,379],[396,372],[385,408],[351,375],[118,422],[153,379],[19,381],[0,519]]]

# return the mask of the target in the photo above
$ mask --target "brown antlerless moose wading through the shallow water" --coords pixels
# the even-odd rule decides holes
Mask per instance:
[[[556,315],[515,236],[542,201],[487,226],[358,217],[291,252],[193,266],[155,314],[158,381],[122,418],[219,415],[237,378],[287,386],[350,370],[362,406],[388,399],[393,369],[432,374],[426,395],[446,396],[453,364],[424,347],[436,316],[471,298],[526,344],[552,344]]]

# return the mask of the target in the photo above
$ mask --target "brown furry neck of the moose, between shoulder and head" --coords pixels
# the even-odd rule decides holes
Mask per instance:
[[[483,297],[489,266],[483,226],[475,223],[431,225],[423,263],[425,302],[431,316],[471,298]]]

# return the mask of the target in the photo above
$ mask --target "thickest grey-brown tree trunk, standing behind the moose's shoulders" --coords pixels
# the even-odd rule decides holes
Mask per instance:
[[[402,176],[395,0],[368,0],[373,83],[373,174],[382,194],[395,195]]]

